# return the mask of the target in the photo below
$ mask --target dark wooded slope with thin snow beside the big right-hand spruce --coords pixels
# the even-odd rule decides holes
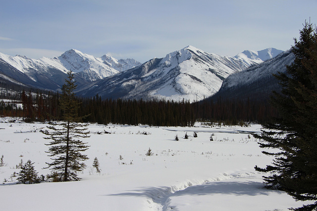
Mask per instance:
[[[286,65],[290,65],[294,58],[294,54],[288,50],[262,64],[232,74],[224,80],[216,96],[265,98],[272,90],[280,88],[273,74],[285,72]]]

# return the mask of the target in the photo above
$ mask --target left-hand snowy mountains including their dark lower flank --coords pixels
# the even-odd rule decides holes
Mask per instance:
[[[107,58],[107,61],[104,58]],[[15,80],[19,79],[18,81],[23,84],[52,90],[60,88],[68,70],[72,70],[77,75],[76,80],[79,84],[85,84],[140,65],[134,59],[117,60],[107,55],[96,58],[75,49],[66,51],[58,58],[31,59],[21,55],[9,56],[0,53],[0,59],[2,65],[14,69],[14,71],[9,71],[10,68],[0,69],[2,74]]]

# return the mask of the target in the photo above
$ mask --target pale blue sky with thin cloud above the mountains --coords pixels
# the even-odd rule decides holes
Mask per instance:
[[[229,56],[287,50],[316,11],[317,0],[5,0],[0,52],[51,58],[74,48],[146,62],[187,45]]]

